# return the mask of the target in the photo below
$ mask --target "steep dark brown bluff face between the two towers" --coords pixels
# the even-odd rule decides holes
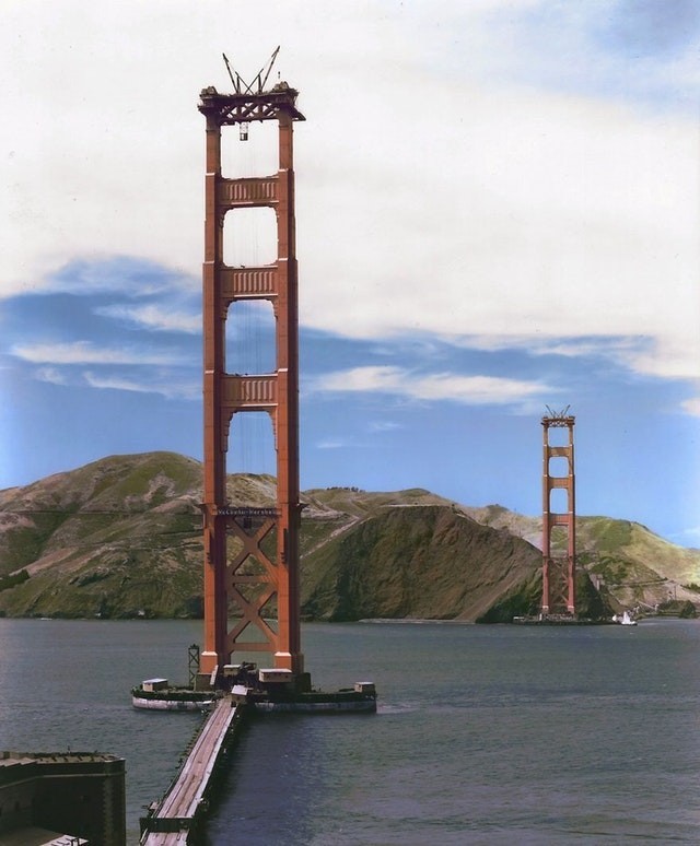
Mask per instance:
[[[540,564],[525,541],[451,507],[385,507],[305,559],[303,612],[475,621]]]

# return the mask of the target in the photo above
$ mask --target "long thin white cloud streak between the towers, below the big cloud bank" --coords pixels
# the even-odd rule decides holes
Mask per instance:
[[[538,381],[452,373],[417,374],[401,367],[369,366],[319,376],[312,390],[390,393],[411,400],[451,400],[468,406],[518,404],[558,391]]]

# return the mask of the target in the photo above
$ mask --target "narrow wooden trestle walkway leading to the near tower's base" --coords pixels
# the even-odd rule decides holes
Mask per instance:
[[[142,846],[191,844],[206,815],[207,792],[219,759],[233,737],[243,708],[226,696],[217,702],[160,804],[141,821]]]

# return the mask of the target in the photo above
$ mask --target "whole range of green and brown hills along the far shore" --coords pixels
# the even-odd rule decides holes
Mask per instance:
[[[232,505],[275,502],[275,479],[236,474]],[[0,614],[199,616],[201,465],[113,456],[0,491]],[[421,489],[303,494],[302,613],[314,620],[510,620],[539,602],[539,521]],[[700,552],[637,524],[580,518],[583,569],[612,604],[663,601],[700,581]],[[28,576],[28,577],[27,577]],[[581,609],[599,611],[585,572]]]

